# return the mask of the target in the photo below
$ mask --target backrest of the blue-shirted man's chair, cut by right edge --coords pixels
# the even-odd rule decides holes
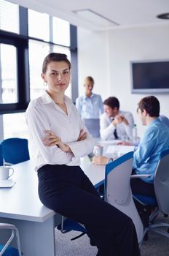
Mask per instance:
[[[154,173],[154,191],[160,211],[169,214],[169,148],[160,153]]]

